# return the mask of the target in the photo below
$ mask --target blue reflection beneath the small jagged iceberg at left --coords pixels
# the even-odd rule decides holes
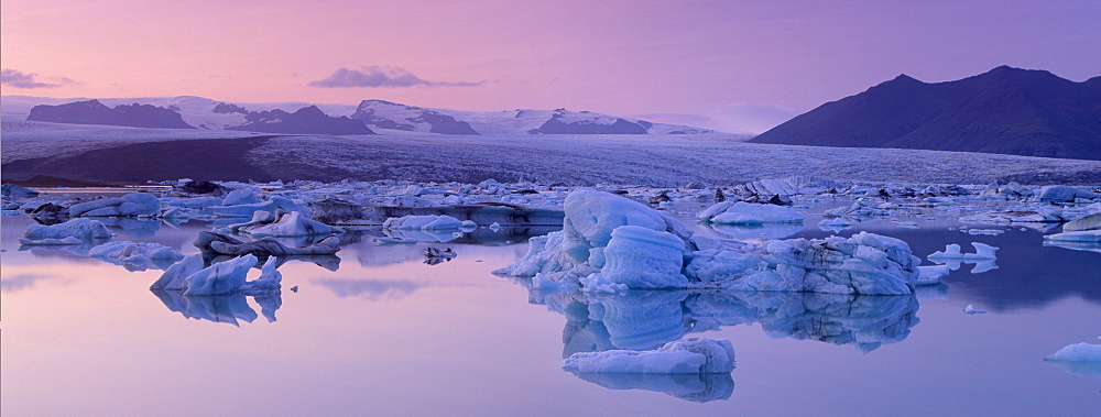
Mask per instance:
[[[240,327],[239,321],[252,322],[257,311],[249,306],[244,294],[233,293],[219,296],[187,296],[182,290],[150,289],[168,310],[179,312],[185,318],[226,322]],[[260,305],[261,314],[268,322],[275,321],[275,310],[283,305],[279,292],[253,297]]]

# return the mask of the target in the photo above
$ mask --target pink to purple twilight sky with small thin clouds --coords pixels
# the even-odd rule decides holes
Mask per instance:
[[[759,133],[898,74],[1083,81],[1101,75],[1098,22],[1099,0],[0,0],[0,88],[567,108]]]

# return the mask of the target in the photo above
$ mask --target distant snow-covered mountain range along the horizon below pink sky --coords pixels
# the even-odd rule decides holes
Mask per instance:
[[[4,96],[0,110],[6,119],[25,119],[34,106],[64,105],[85,98],[57,99],[30,96]],[[429,109],[383,100],[363,100],[356,105],[312,105],[305,102],[240,103],[201,97],[153,97],[98,99],[106,106],[151,105],[179,113],[187,124],[207,130],[249,130],[254,112],[281,110],[293,113],[316,106],[331,118],[350,117],[372,130],[393,133],[425,132],[440,134],[693,134],[710,130],[687,125],[651,123],[589,111],[516,109],[494,112]],[[251,124],[250,124],[251,123]],[[270,128],[264,124],[265,128]],[[265,130],[270,131],[270,130]],[[287,131],[277,133],[305,133]],[[325,133],[321,131],[309,133]],[[337,134],[337,133],[329,133]],[[340,133],[350,134],[350,133]]]

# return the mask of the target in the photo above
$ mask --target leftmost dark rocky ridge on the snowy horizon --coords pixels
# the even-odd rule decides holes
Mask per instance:
[[[139,103],[118,105],[110,108],[98,100],[76,101],[59,106],[35,106],[26,116],[26,120],[131,128],[195,129],[195,127],[184,122],[178,112],[168,108]]]

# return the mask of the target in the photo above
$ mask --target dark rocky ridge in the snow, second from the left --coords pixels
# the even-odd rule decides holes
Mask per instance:
[[[275,109],[269,111],[248,112],[235,105],[221,103],[215,112],[244,114],[246,123],[228,127],[226,130],[242,130],[249,132],[291,133],[291,134],[374,134],[363,122],[346,116],[329,117],[317,106],[308,106],[293,113]]]

